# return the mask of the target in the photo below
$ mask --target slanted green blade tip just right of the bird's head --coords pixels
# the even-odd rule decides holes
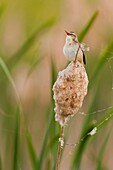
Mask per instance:
[[[88,21],[87,25],[84,27],[84,29],[82,30],[82,32],[80,33],[78,39],[81,42],[84,37],[86,36],[86,34],[89,32],[89,30],[91,29],[91,26],[93,25],[94,21],[96,20],[97,16],[98,16],[98,11],[96,11],[92,17],[90,18],[90,20]]]

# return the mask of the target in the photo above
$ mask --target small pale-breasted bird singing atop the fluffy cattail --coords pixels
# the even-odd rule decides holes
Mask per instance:
[[[63,47],[63,53],[69,61],[80,61],[86,64],[84,55],[84,45],[80,44],[77,35],[74,32],[66,32],[66,42]]]

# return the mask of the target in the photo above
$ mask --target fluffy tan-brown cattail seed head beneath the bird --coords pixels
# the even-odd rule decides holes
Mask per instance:
[[[60,71],[53,86],[55,119],[64,126],[71,116],[81,108],[87,94],[88,77],[85,67],[79,61],[71,62]]]

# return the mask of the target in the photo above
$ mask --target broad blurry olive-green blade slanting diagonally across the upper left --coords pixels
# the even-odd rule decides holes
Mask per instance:
[[[15,64],[19,62],[19,60],[23,57],[23,55],[32,47],[37,36],[39,36],[40,33],[45,29],[50,28],[54,23],[55,23],[55,19],[52,18],[46,21],[45,23],[39,25],[37,30],[25,41],[25,43],[21,46],[21,48],[8,61],[8,65],[11,69],[15,66]]]

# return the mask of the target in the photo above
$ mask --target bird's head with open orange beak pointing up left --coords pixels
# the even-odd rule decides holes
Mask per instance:
[[[66,42],[67,43],[78,42],[77,35],[74,32],[65,31],[65,33],[66,33]]]

